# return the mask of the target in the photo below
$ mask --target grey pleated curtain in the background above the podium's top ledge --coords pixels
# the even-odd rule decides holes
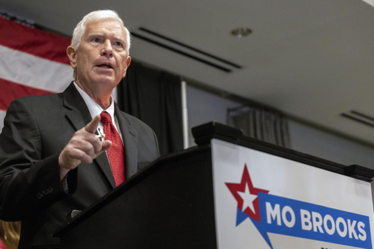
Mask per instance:
[[[229,124],[242,129],[244,135],[290,148],[287,119],[281,113],[248,106],[227,113]]]

